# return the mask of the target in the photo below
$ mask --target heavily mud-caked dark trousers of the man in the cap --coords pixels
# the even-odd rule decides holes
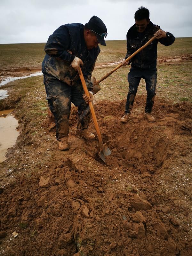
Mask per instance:
[[[71,103],[78,107],[77,129],[87,129],[91,112],[83,99],[82,84],[69,86],[54,76],[44,74],[44,85],[49,108],[55,117],[57,140],[68,139]]]

